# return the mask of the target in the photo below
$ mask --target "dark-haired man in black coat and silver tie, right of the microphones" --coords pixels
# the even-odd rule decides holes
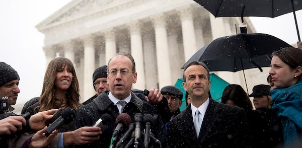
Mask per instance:
[[[209,98],[211,82],[206,65],[189,63],[184,68],[183,80],[191,104],[169,123],[171,147],[250,147],[244,110]]]

